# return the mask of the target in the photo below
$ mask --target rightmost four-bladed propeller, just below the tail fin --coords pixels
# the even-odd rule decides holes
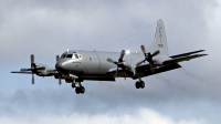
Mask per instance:
[[[141,45],[140,48],[141,48],[141,51],[143,51],[143,53],[144,53],[144,55],[145,55],[145,60],[138,62],[137,65],[140,65],[141,63],[144,63],[145,61],[147,61],[147,62],[149,62],[149,66],[150,66],[150,69],[151,69],[151,72],[154,73],[155,70],[154,70],[154,61],[152,61],[152,58],[156,56],[156,55],[158,55],[158,54],[160,53],[160,51],[157,50],[157,51],[155,51],[154,53],[150,53],[150,52],[147,53],[147,52],[146,52],[146,49],[145,49],[145,45]]]

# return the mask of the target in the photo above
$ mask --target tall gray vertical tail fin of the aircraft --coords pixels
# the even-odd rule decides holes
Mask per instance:
[[[169,56],[165,24],[161,19],[157,21],[155,41],[148,49],[150,52],[160,51],[160,55]]]

